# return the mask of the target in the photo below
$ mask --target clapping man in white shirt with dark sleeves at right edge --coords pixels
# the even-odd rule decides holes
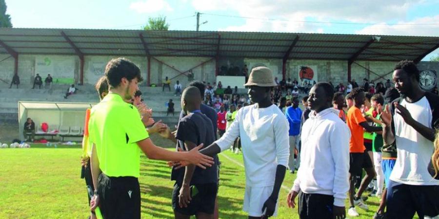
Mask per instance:
[[[419,87],[419,70],[401,61],[393,72],[401,97],[381,114],[386,145],[396,143],[398,158],[387,187],[388,219],[439,218],[439,180],[429,173],[439,128],[439,97]]]

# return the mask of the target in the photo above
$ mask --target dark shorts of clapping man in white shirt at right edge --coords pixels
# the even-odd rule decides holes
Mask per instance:
[[[407,185],[390,181],[387,188],[388,219],[439,216],[439,185]]]

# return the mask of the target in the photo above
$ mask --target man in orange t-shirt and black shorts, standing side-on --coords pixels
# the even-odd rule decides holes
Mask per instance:
[[[354,105],[348,110],[346,118],[346,124],[351,130],[351,139],[349,141],[349,200],[351,206],[348,210],[348,215],[358,217],[359,214],[357,213],[354,204],[358,205],[361,209],[369,209],[366,203],[361,200],[361,194],[375,177],[375,170],[372,160],[370,159],[369,154],[366,151],[366,147],[364,146],[364,130],[368,132],[376,132],[381,131],[382,128],[369,126],[366,119],[363,117],[360,109],[361,106],[364,105],[365,94],[361,88],[354,88],[352,92],[349,93],[349,96],[352,97]],[[363,168],[366,171],[366,175],[361,181],[357,194],[355,194],[355,176],[360,176]]]

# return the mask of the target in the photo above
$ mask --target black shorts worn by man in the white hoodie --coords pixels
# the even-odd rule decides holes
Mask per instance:
[[[299,217],[303,219],[332,219],[334,196],[299,192]]]

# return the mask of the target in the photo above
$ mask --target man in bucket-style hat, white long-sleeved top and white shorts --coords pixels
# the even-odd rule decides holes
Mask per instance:
[[[289,157],[289,124],[270,99],[276,83],[270,69],[254,68],[249,76],[248,95],[253,105],[243,107],[224,135],[200,152],[213,156],[241,138],[245,165],[243,210],[249,219],[276,215],[280,186]]]

